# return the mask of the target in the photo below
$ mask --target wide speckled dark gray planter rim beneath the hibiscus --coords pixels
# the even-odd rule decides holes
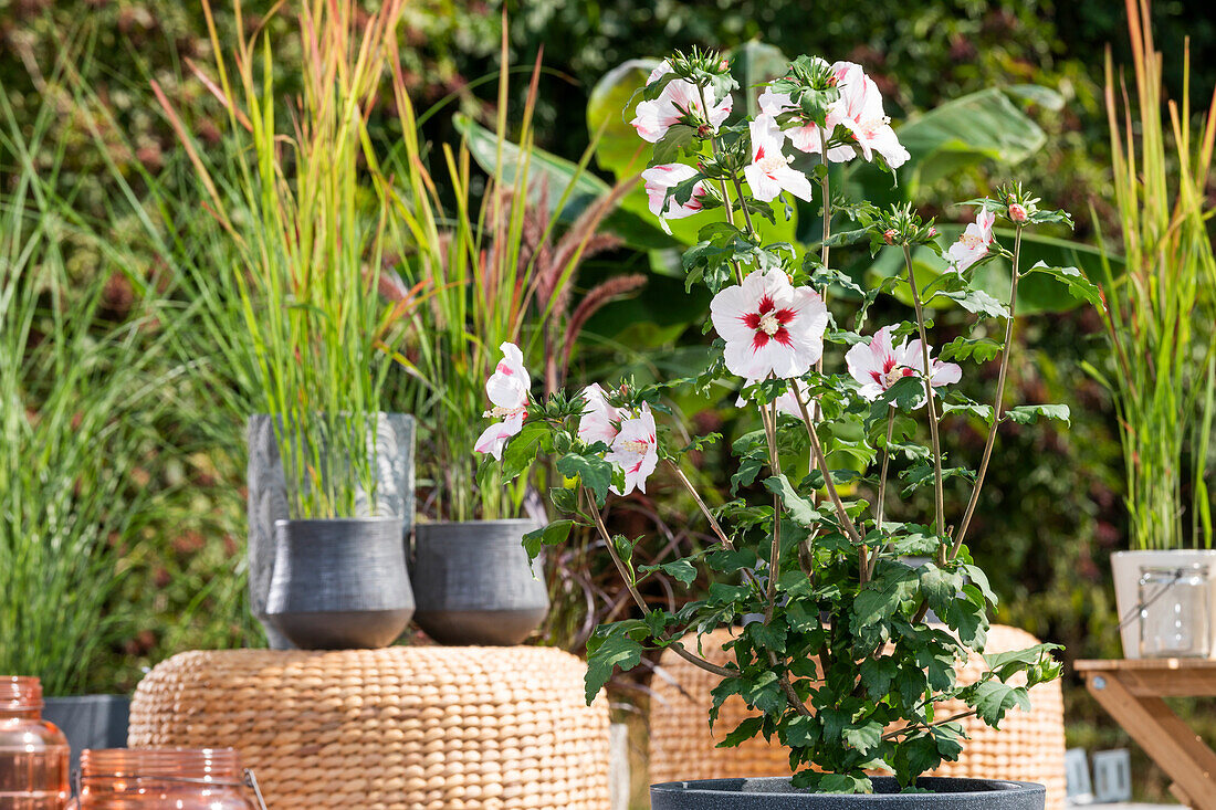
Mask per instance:
[[[651,786],[651,810],[1043,810],[1047,798],[1030,782],[917,780],[933,793],[900,793],[889,776],[873,782],[867,795],[795,791],[789,777],[665,782]]]

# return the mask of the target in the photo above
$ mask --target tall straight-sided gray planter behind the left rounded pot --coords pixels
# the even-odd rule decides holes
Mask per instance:
[[[275,569],[275,523],[291,517],[287,507],[287,482],[275,439],[275,424],[264,414],[249,417],[249,607],[266,630],[272,649],[291,649],[292,643],[266,620],[266,600]],[[401,518],[401,541],[413,529],[413,417],[406,414],[381,414],[377,420],[376,452],[379,478],[375,510],[366,496],[360,499],[354,517],[381,516]]]

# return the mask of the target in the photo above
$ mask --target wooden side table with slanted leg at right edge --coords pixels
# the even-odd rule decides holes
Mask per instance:
[[[1079,660],[1075,669],[1102,708],[1173,780],[1173,797],[1197,810],[1216,810],[1216,753],[1161,699],[1216,697],[1216,660]]]

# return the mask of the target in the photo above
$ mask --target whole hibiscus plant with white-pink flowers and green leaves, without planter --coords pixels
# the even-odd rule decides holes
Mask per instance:
[[[1038,645],[987,656],[976,682],[958,682],[956,666],[984,651],[997,598],[966,539],[1000,424],[1068,418],[1064,406],[1006,406],[1019,277],[1046,272],[1083,297],[1093,286],[1073,268],[1020,266],[1025,229],[1071,221],[1041,209],[1018,185],[966,203],[978,210],[975,221],[945,251],[933,221],[911,207],[843,199],[831,187],[829,163],[863,159],[894,171],[908,157],[860,66],[800,57],[762,86],[761,112],[750,120],[732,118],[737,90],[719,55],[675,54],[649,77],[632,122],[654,145],[643,178],[659,218],[725,209],[725,221],[708,224],[683,255],[687,287],[713,293],[709,367],[666,384],[592,384],[540,401],[523,356],[503,344],[486,387],[496,422],[478,449],[507,479],[524,474],[537,455],[550,457],[559,474],[550,501],[563,517],[525,539],[529,552],[563,542],[575,524],[591,527],[637,604],[641,618],[602,625],[591,639],[589,699],[614,668],[669,648],[721,677],[711,722],[730,696],[755,710],[721,744],[759,735],[779,741],[804,788],[869,792],[867,774],[876,771],[907,788],[958,758],[962,718],[996,726],[1009,709],[1029,705],[1031,687],[1059,675],[1058,647]],[[758,218],[789,214],[789,197],[821,206],[823,238],[814,251],[765,244],[756,235]],[[993,236],[997,219],[1012,226],[1012,249]],[[834,234],[837,221],[850,227]],[[900,251],[905,274],[865,288],[831,264],[832,248],[852,243]],[[940,259],[931,279],[917,276],[912,251],[921,246]],[[997,255],[1012,265],[1004,302],[973,285],[975,269]],[[829,293],[850,317],[828,308]],[[910,296],[914,317],[871,328],[867,314],[879,296]],[[973,316],[973,332],[935,358],[930,313],[947,305]],[[829,355],[843,355],[841,371],[824,367],[826,344]],[[998,364],[991,404],[952,388],[962,376],[955,361]],[[759,412],[761,428],[732,446],[733,500],[716,508],[683,465],[721,437],[681,446],[682,434],[660,424],[670,416],[665,394],[677,386],[706,396],[717,386],[741,388],[741,405]],[[941,448],[941,422],[959,418],[986,423],[974,471]],[[854,461],[845,466],[845,459]],[[660,463],[687,489],[716,544],[657,568],[635,567],[634,549],[646,538],[613,534],[606,511],[613,497],[646,491]],[[888,518],[899,489],[889,480],[893,468],[905,496],[931,489],[933,511],[923,521],[905,518],[906,508],[901,519]],[[955,490],[967,493],[958,510],[946,504]],[[697,566],[716,579],[704,598],[676,612],[643,600],[638,585],[647,576],[662,570],[691,584]],[[706,660],[692,641],[721,625],[736,629],[725,665]],[[935,707],[947,699],[968,710],[940,716]]]

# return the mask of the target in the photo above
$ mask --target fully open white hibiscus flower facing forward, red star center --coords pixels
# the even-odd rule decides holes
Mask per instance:
[[[709,311],[726,341],[726,367],[745,379],[801,377],[823,354],[823,299],[781,270],[753,271],[714,296]]]

